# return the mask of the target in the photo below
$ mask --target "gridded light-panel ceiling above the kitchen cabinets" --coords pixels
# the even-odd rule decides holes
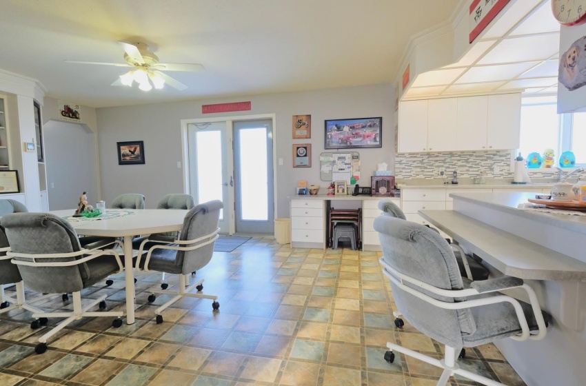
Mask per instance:
[[[521,90],[555,94],[560,25],[549,0],[512,3],[464,57],[420,74],[403,98]]]

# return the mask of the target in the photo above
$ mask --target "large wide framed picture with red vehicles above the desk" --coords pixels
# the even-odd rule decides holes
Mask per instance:
[[[325,149],[382,148],[383,118],[325,121]]]

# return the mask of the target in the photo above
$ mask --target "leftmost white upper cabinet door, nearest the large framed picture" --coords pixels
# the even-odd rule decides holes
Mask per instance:
[[[427,151],[427,100],[401,102],[398,115],[398,151]]]

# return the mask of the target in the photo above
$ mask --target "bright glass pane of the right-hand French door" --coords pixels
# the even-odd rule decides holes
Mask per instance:
[[[239,135],[242,220],[267,221],[267,129],[241,129]]]

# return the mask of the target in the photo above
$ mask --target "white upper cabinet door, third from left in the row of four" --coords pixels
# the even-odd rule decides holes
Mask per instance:
[[[486,150],[488,96],[458,98],[456,150]]]

